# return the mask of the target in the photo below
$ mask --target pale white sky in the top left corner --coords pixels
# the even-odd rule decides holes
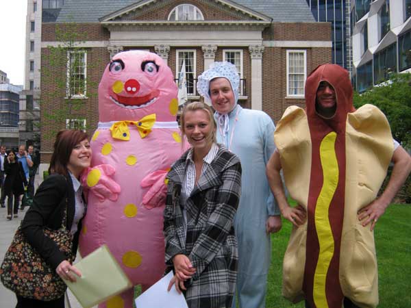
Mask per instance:
[[[27,0],[0,0],[0,70],[23,85]]]

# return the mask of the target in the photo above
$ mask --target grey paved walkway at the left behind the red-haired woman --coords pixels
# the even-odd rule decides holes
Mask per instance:
[[[36,187],[37,186],[38,185],[36,185]],[[0,207],[0,263],[3,262],[5,251],[7,251],[8,247],[10,246],[14,232],[20,225],[20,222],[23,219],[26,211],[27,209],[25,209],[23,212],[19,212],[18,218],[13,218],[9,221],[6,218],[7,208]],[[73,294],[71,294],[71,292],[69,292],[69,299],[71,303],[71,308],[82,308],[82,305],[78,303],[78,301],[73,296]],[[0,282],[0,308],[16,307],[16,302],[16,296],[14,295],[14,293],[6,289]],[[66,305],[66,308],[68,307],[69,306]]]

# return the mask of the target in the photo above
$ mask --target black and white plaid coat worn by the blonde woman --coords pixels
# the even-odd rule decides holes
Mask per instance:
[[[231,307],[236,286],[237,240],[234,214],[241,194],[240,159],[221,144],[188,196],[186,234],[179,204],[188,151],[173,164],[167,178],[164,209],[167,271],[177,254],[187,255],[197,270],[186,283],[190,308]],[[184,239],[186,239],[184,241]]]

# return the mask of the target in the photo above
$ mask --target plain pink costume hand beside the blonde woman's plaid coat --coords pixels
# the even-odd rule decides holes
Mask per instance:
[[[167,172],[168,170],[158,170],[151,172],[144,179],[142,179],[140,183],[141,187],[150,187],[142,197],[142,205],[144,205],[147,209],[164,205],[167,194]]]

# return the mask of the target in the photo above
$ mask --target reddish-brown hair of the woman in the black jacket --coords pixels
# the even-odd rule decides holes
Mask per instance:
[[[60,175],[67,175],[67,164],[69,164],[71,151],[84,139],[88,139],[85,131],[74,129],[59,131],[55,136],[54,152],[51,155],[49,174],[59,173]]]

